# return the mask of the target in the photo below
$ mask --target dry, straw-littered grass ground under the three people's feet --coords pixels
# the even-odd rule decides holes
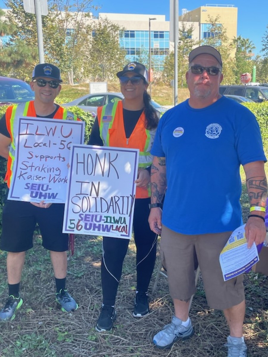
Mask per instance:
[[[190,311],[195,335],[190,340],[176,343],[169,351],[153,346],[152,338],[170,322],[173,306],[167,280],[160,277],[157,291],[150,296],[150,315],[142,319],[132,316],[135,286],[132,241],[116,300],[118,318],[115,328],[111,332],[96,332],[94,327],[101,305],[101,239],[77,236],[75,244],[75,255],[68,262],[68,288],[78,301],[79,309],[72,313],[58,309],[49,255],[41,247],[40,238],[36,238],[34,250],[28,252],[23,273],[21,293],[24,304],[15,320],[1,323],[1,357],[226,356],[223,343],[228,329],[222,313],[208,308],[201,277]],[[0,294],[3,301],[6,297],[4,257],[2,252]],[[156,269],[152,285],[155,273]],[[245,277],[247,312],[244,331],[249,357],[267,356],[267,279],[254,273]]]

